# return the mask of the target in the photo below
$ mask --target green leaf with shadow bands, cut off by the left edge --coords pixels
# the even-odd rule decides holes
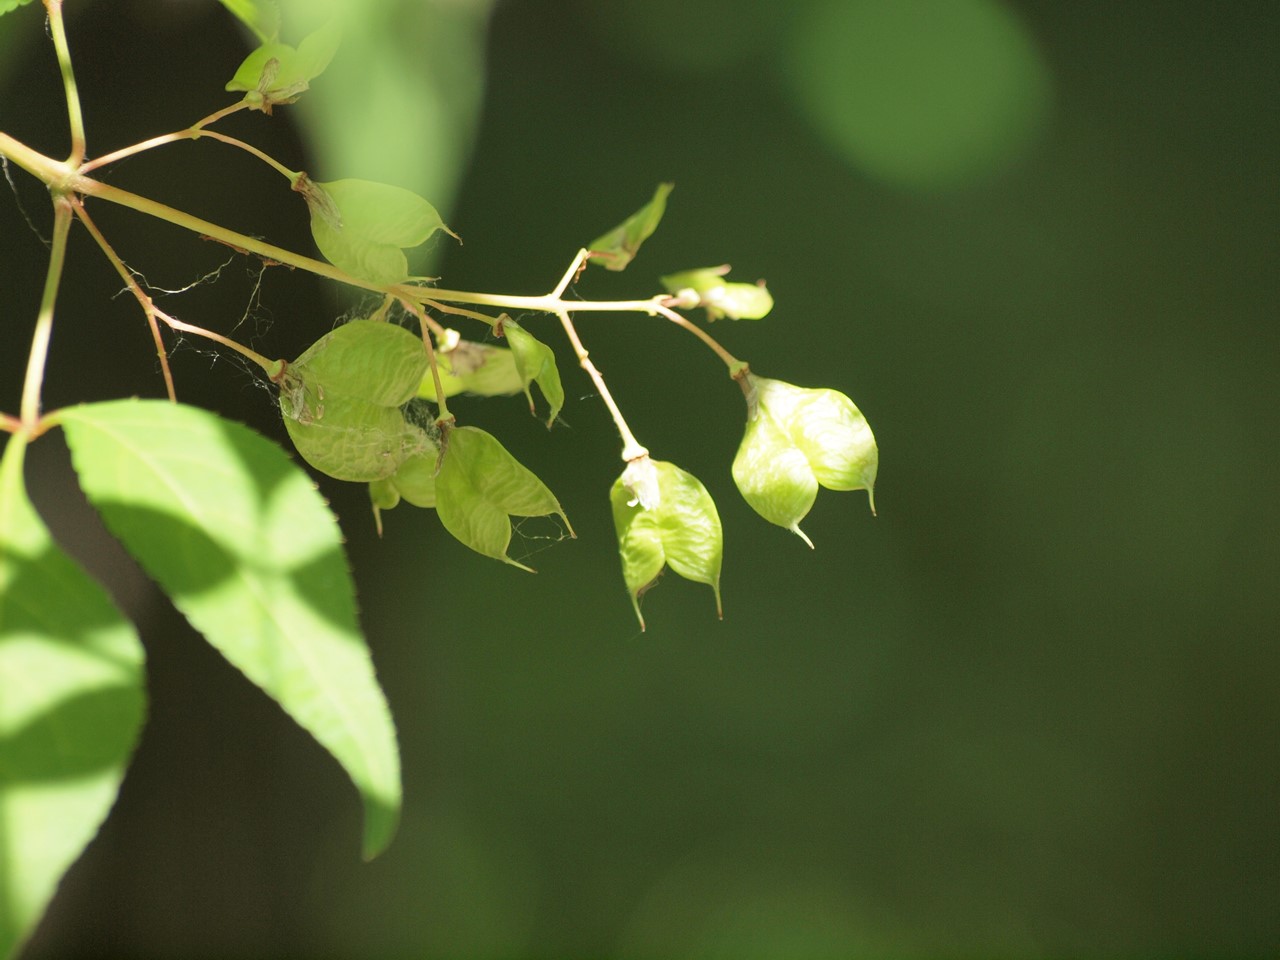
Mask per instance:
[[[0,956],[31,934],[97,833],[142,727],[142,645],[54,544],[0,460]]]

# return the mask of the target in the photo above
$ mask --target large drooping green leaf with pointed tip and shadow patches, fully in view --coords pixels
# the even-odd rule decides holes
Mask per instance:
[[[81,488],[174,605],[342,764],[379,854],[401,806],[387,700],[337,520],[307,475],[241,424],[163,401],[59,415]]]

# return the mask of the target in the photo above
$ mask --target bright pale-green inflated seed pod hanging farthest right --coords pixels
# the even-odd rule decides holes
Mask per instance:
[[[879,452],[849,397],[753,374],[745,375],[742,389],[746,433],[733,458],[733,481],[756,513],[813,547],[800,521],[819,486],[867,490],[876,512]]]

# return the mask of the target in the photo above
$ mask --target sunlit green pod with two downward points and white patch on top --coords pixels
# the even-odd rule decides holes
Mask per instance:
[[[622,579],[641,630],[640,595],[653,586],[664,566],[710,586],[716,613],[723,616],[719,575],[724,535],[716,503],[698,477],[675,463],[640,457],[613,483],[609,503]]]

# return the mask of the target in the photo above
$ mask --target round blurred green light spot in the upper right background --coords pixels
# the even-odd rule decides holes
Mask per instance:
[[[841,156],[913,188],[1006,166],[1050,101],[1036,45],[997,0],[819,0],[796,24],[786,72]]]

